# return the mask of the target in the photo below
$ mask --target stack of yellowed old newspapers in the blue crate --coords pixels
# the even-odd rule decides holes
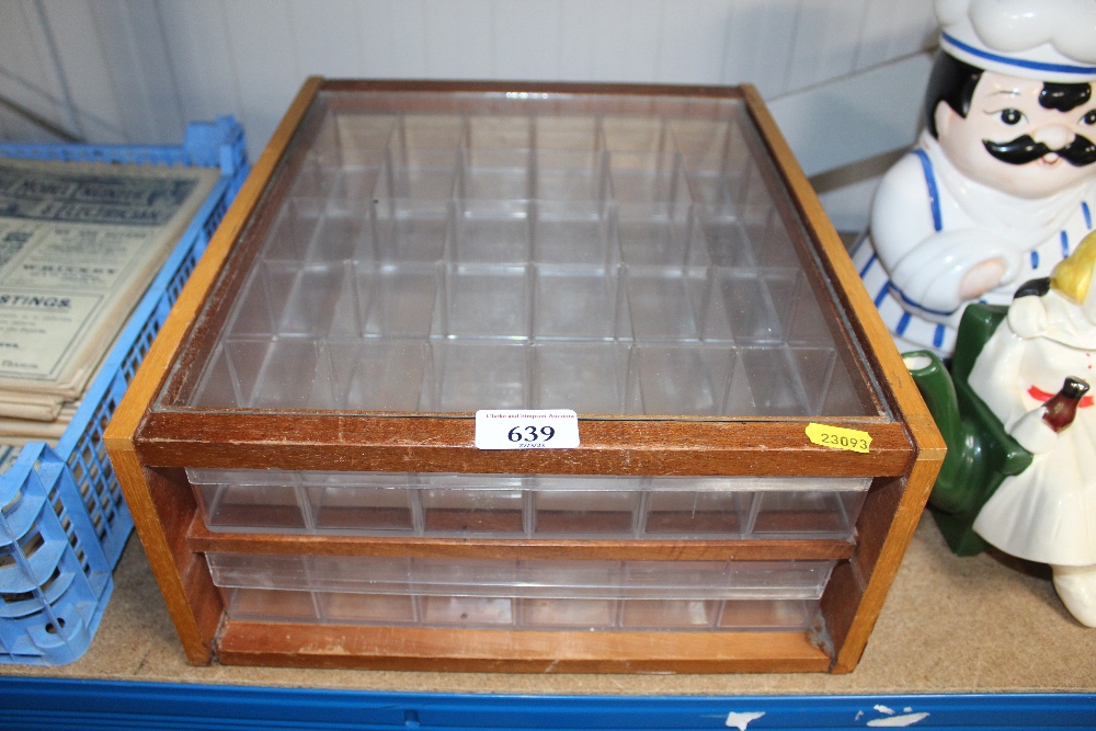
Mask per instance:
[[[0,158],[0,444],[60,437],[217,176]]]

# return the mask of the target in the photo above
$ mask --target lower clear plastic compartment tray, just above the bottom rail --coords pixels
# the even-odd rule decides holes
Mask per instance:
[[[207,555],[232,619],[448,628],[809,629],[832,561]]]

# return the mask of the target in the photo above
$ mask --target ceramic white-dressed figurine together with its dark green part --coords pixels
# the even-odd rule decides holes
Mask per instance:
[[[948,446],[929,505],[959,555],[1047,563],[1096,627],[1096,232],[1011,307],[967,309],[949,377],[905,354]]]

